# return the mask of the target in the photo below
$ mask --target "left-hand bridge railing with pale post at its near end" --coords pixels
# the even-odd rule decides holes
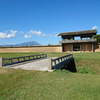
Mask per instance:
[[[16,63],[30,61],[30,60],[36,60],[36,59],[41,59],[41,58],[46,58],[46,57],[47,57],[47,54],[45,53],[45,54],[29,55],[29,56],[14,57],[14,58],[0,58],[1,59],[0,62],[2,66],[6,66],[6,65],[11,65],[11,64],[16,64]]]

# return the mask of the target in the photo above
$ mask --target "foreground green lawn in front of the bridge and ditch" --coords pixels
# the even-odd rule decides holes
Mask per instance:
[[[100,76],[0,69],[0,100],[99,100]]]

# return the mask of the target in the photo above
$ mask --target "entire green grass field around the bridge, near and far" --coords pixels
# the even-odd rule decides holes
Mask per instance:
[[[18,57],[36,53],[0,53]],[[67,53],[48,53],[59,57]],[[100,53],[75,53],[77,73],[0,68],[0,100],[100,100]]]

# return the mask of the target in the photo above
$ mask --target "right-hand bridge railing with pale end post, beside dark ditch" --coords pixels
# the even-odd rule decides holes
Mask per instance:
[[[64,64],[68,64],[71,60],[73,60],[73,54],[69,54],[66,56],[62,56],[56,59],[49,59],[49,70],[52,69],[60,69]]]

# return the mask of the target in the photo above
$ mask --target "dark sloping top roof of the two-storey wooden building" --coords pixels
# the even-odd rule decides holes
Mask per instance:
[[[69,35],[85,35],[85,34],[94,34],[96,35],[97,30],[85,30],[85,31],[75,31],[75,32],[64,32],[64,33],[60,33],[58,36],[69,36]]]

